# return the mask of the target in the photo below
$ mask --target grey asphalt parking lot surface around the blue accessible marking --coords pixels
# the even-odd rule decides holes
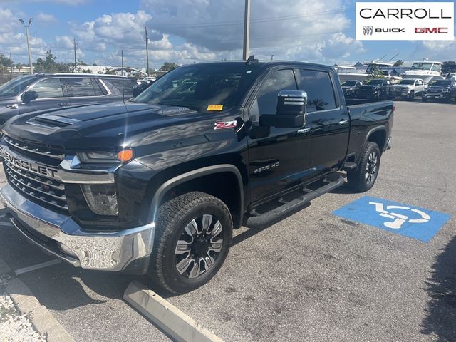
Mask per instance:
[[[167,300],[225,341],[455,341],[456,105],[395,105],[372,190],[341,187],[271,227],[240,229],[209,284]],[[426,243],[332,214],[365,195],[452,217]],[[12,269],[54,259],[0,224]],[[63,263],[19,278],[76,341],[169,341],[122,299],[145,278]]]

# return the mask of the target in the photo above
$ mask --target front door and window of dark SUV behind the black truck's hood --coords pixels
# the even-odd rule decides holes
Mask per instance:
[[[27,91],[36,91],[38,98],[31,100],[30,103],[19,103],[19,113],[21,114],[33,110],[59,108],[68,103],[61,78],[58,77],[43,78],[28,88]]]

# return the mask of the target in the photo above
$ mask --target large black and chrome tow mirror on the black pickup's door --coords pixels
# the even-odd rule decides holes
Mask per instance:
[[[277,96],[276,114],[259,117],[260,126],[299,128],[306,123],[307,93],[301,90],[282,90]]]

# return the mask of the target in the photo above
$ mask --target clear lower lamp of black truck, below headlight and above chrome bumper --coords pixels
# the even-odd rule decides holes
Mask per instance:
[[[115,216],[119,213],[113,184],[81,184],[81,189],[90,210],[95,214]]]

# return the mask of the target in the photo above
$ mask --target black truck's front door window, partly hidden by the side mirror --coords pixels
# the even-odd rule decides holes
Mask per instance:
[[[275,114],[277,95],[281,90],[297,90],[294,73],[291,69],[274,71],[266,78],[250,108],[250,119],[258,122],[261,114]]]

